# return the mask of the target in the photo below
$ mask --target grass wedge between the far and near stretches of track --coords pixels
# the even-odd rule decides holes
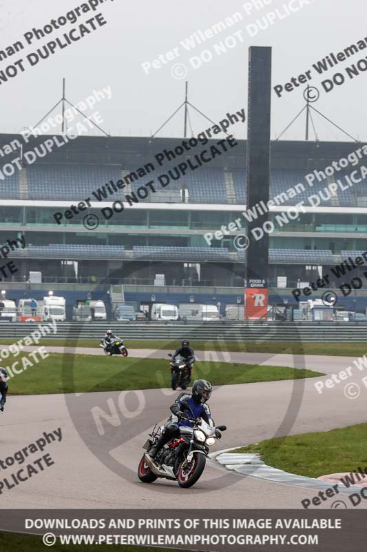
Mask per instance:
[[[19,355],[17,369],[22,366]],[[6,364],[3,363],[5,367]],[[271,382],[324,375],[311,370],[283,366],[258,366],[224,362],[196,362],[193,380],[205,378],[213,385]],[[169,387],[168,362],[161,359],[106,357],[98,355],[62,355],[52,353],[39,364],[29,366],[10,377],[10,393],[87,393],[90,391],[125,391]]]

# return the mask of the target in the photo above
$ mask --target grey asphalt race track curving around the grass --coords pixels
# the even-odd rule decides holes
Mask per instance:
[[[64,351],[57,347],[48,350]],[[85,353],[85,349],[76,349],[75,352]],[[103,355],[98,348],[88,350],[88,353]],[[134,357],[167,357],[167,351],[135,349],[129,353]],[[206,358],[209,354],[206,353]],[[306,368],[328,374],[344,370],[353,361],[348,357],[293,357],[260,353],[226,355],[229,362],[295,364],[296,367],[304,362]],[[199,353],[198,357],[203,358],[203,353]],[[116,360],[119,361],[118,358]],[[353,371],[353,375],[355,372],[357,370]],[[217,387],[211,397],[211,411],[216,423],[226,424],[228,431],[223,434],[222,443],[213,446],[213,451],[259,442],[275,435],[323,431],[366,422],[367,388],[361,384],[363,376],[364,373],[360,372],[359,380],[350,377],[335,384],[334,388],[326,388],[322,395],[315,389],[317,378]],[[326,380],[327,377],[321,379]],[[349,399],[344,394],[344,388],[350,382],[357,382],[360,386],[360,394],[355,399]],[[131,400],[125,393],[130,394]],[[175,482],[166,480],[150,485],[141,483],[136,475],[143,451],[141,446],[154,422],[166,419],[169,404],[177,392],[162,389],[140,391],[139,396],[144,397],[144,408],[135,417],[129,413],[136,403],[134,392],[124,392],[125,419],[113,427],[109,422],[103,422],[112,427],[113,438],[110,442],[109,436],[101,440],[90,415],[92,405],[102,405],[105,411],[109,411],[107,405],[111,406],[112,402],[117,404],[120,395],[120,392],[81,394],[73,399],[72,415],[70,395],[10,396],[6,412],[0,414],[0,460],[35,442],[43,431],[52,432],[61,428],[63,437],[61,442],[51,442],[43,453],[34,453],[25,461],[23,467],[49,453],[54,464],[43,471],[38,470],[39,473],[10,490],[2,489],[1,508],[174,509],[179,505],[189,509],[296,509],[302,508],[301,500],[306,497],[311,499],[317,494],[313,489],[223,471],[212,463],[207,465],[205,473],[192,489],[180,489]],[[109,461],[112,469],[105,465]],[[116,473],[116,465],[122,466],[120,473]],[[1,481],[21,467],[14,464],[12,468],[1,469]],[[330,507],[331,502],[325,502],[318,508]],[[363,502],[361,507],[364,507]]]

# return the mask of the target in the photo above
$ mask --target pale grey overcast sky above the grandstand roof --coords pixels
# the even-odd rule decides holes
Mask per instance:
[[[266,1],[266,5],[265,2]],[[0,71],[6,70],[17,59],[25,59],[30,52],[36,52],[48,41],[62,37],[63,32],[78,27],[98,12],[103,14],[107,24],[91,32],[80,41],[72,43],[48,59],[42,59],[31,67],[25,61],[25,71],[17,77],[1,83],[0,132],[19,132],[21,128],[36,124],[61,97],[61,81],[67,79],[67,99],[76,103],[92,90],[106,86],[112,88],[112,99],[98,104],[103,117],[103,128],[112,135],[147,136],[155,132],[171,115],[185,95],[185,78],[189,81],[189,101],[213,121],[222,119],[228,111],[246,108],[247,112],[247,61],[249,46],[273,47],[273,86],[285,85],[291,77],[298,77],[311,70],[310,86],[320,91],[314,104],[317,110],[333,119],[350,135],[367,141],[366,88],[367,71],[350,79],[346,67],[367,56],[361,50],[325,75],[317,75],[313,63],[330,52],[341,52],[347,46],[366,38],[366,1],[315,0],[296,13],[286,14],[285,6],[291,0],[263,0],[263,8],[251,13],[249,2],[242,0],[106,0],[96,12],[85,13],[76,23],[69,23],[60,30],[54,30],[45,39],[27,45],[23,34],[33,27],[43,28],[51,19],[65,15],[68,10],[81,6],[83,1],[63,0],[0,0],[0,50],[21,40],[24,50],[0,61]],[[300,6],[305,0],[293,0],[291,5]],[[253,0],[260,4],[260,0]],[[246,6],[244,6],[246,4]],[[257,21],[264,26],[264,17],[278,8],[283,19],[275,15],[273,25],[266,30],[258,28]],[[182,46],[193,32],[205,32],[216,23],[240,12],[242,19],[235,25],[197,45],[190,52]],[[249,28],[248,26],[251,25]],[[233,33],[237,33],[233,37]],[[250,36],[253,34],[254,36]],[[255,34],[256,33],[256,34]],[[228,37],[233,38],[228,38]],[[241,39],[243,42],[241,42]],[[227,40],[227,54],[216,53],[215,45]],[[178,57],[167,60],[162,68],[149,70],[146,75],[142,64],[153,63],[160,54],[174,50]],[[211,56],[209,62],[198,58]],[[196,59],[192,59],[195,57]],[[180,63],[179,66],[174,66]],[[336,72],[345,76],[341,86],[335,86],[326,93],[321,85],[324,79],[331,79]],[[306,85],[277,97],[272,92],[272,139],[282,130],[304,106],[303,91]],[[344,135],[319,115],[314,117],[315,128],[320,140],[344,140]],[[193,132],[207,128],[205,119],[191,111]],[[283,139],[304,139],[305,117],[286,132]],[[92,132],[98,134],[98,132]],[[183,134],[183,112],[159,133],[159,136]],[[245,125],[235,126],[234,134],[244,138]],[[311,137],[313,131],[311,130]],[[348,138],[346,139],[348,140]]]

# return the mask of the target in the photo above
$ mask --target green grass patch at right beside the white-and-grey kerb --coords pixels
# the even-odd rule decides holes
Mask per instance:
[[[269,466],[308,477],[349,473],[367,466],[367,424],[278,437],[231,452],[258,453]]]

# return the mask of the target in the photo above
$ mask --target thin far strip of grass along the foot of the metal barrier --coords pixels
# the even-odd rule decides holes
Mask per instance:
[[[18,338],[17,338],[18,339]],[[10,345],[17,339],[0,339],[0,345]],[[20,338],[19,338],[20,339]],[[175,350],[180,342],[154,339],[127,339],[127,348]],[[98,339],[43,339],[43,345],[67,347],[98,347]],[[238,342],[238,341],[193,341],[196,351],[233,351],[244,353],[284,353],[297,355],[363,356],[367,352],[366,343],[302,343],[302,342]]]

